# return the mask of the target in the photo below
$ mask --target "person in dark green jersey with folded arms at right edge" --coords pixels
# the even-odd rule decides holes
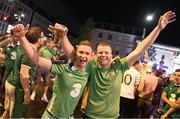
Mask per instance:
[[[161,119],[180,118],[180,69],[176,69],[161,99],[165,102]]]

